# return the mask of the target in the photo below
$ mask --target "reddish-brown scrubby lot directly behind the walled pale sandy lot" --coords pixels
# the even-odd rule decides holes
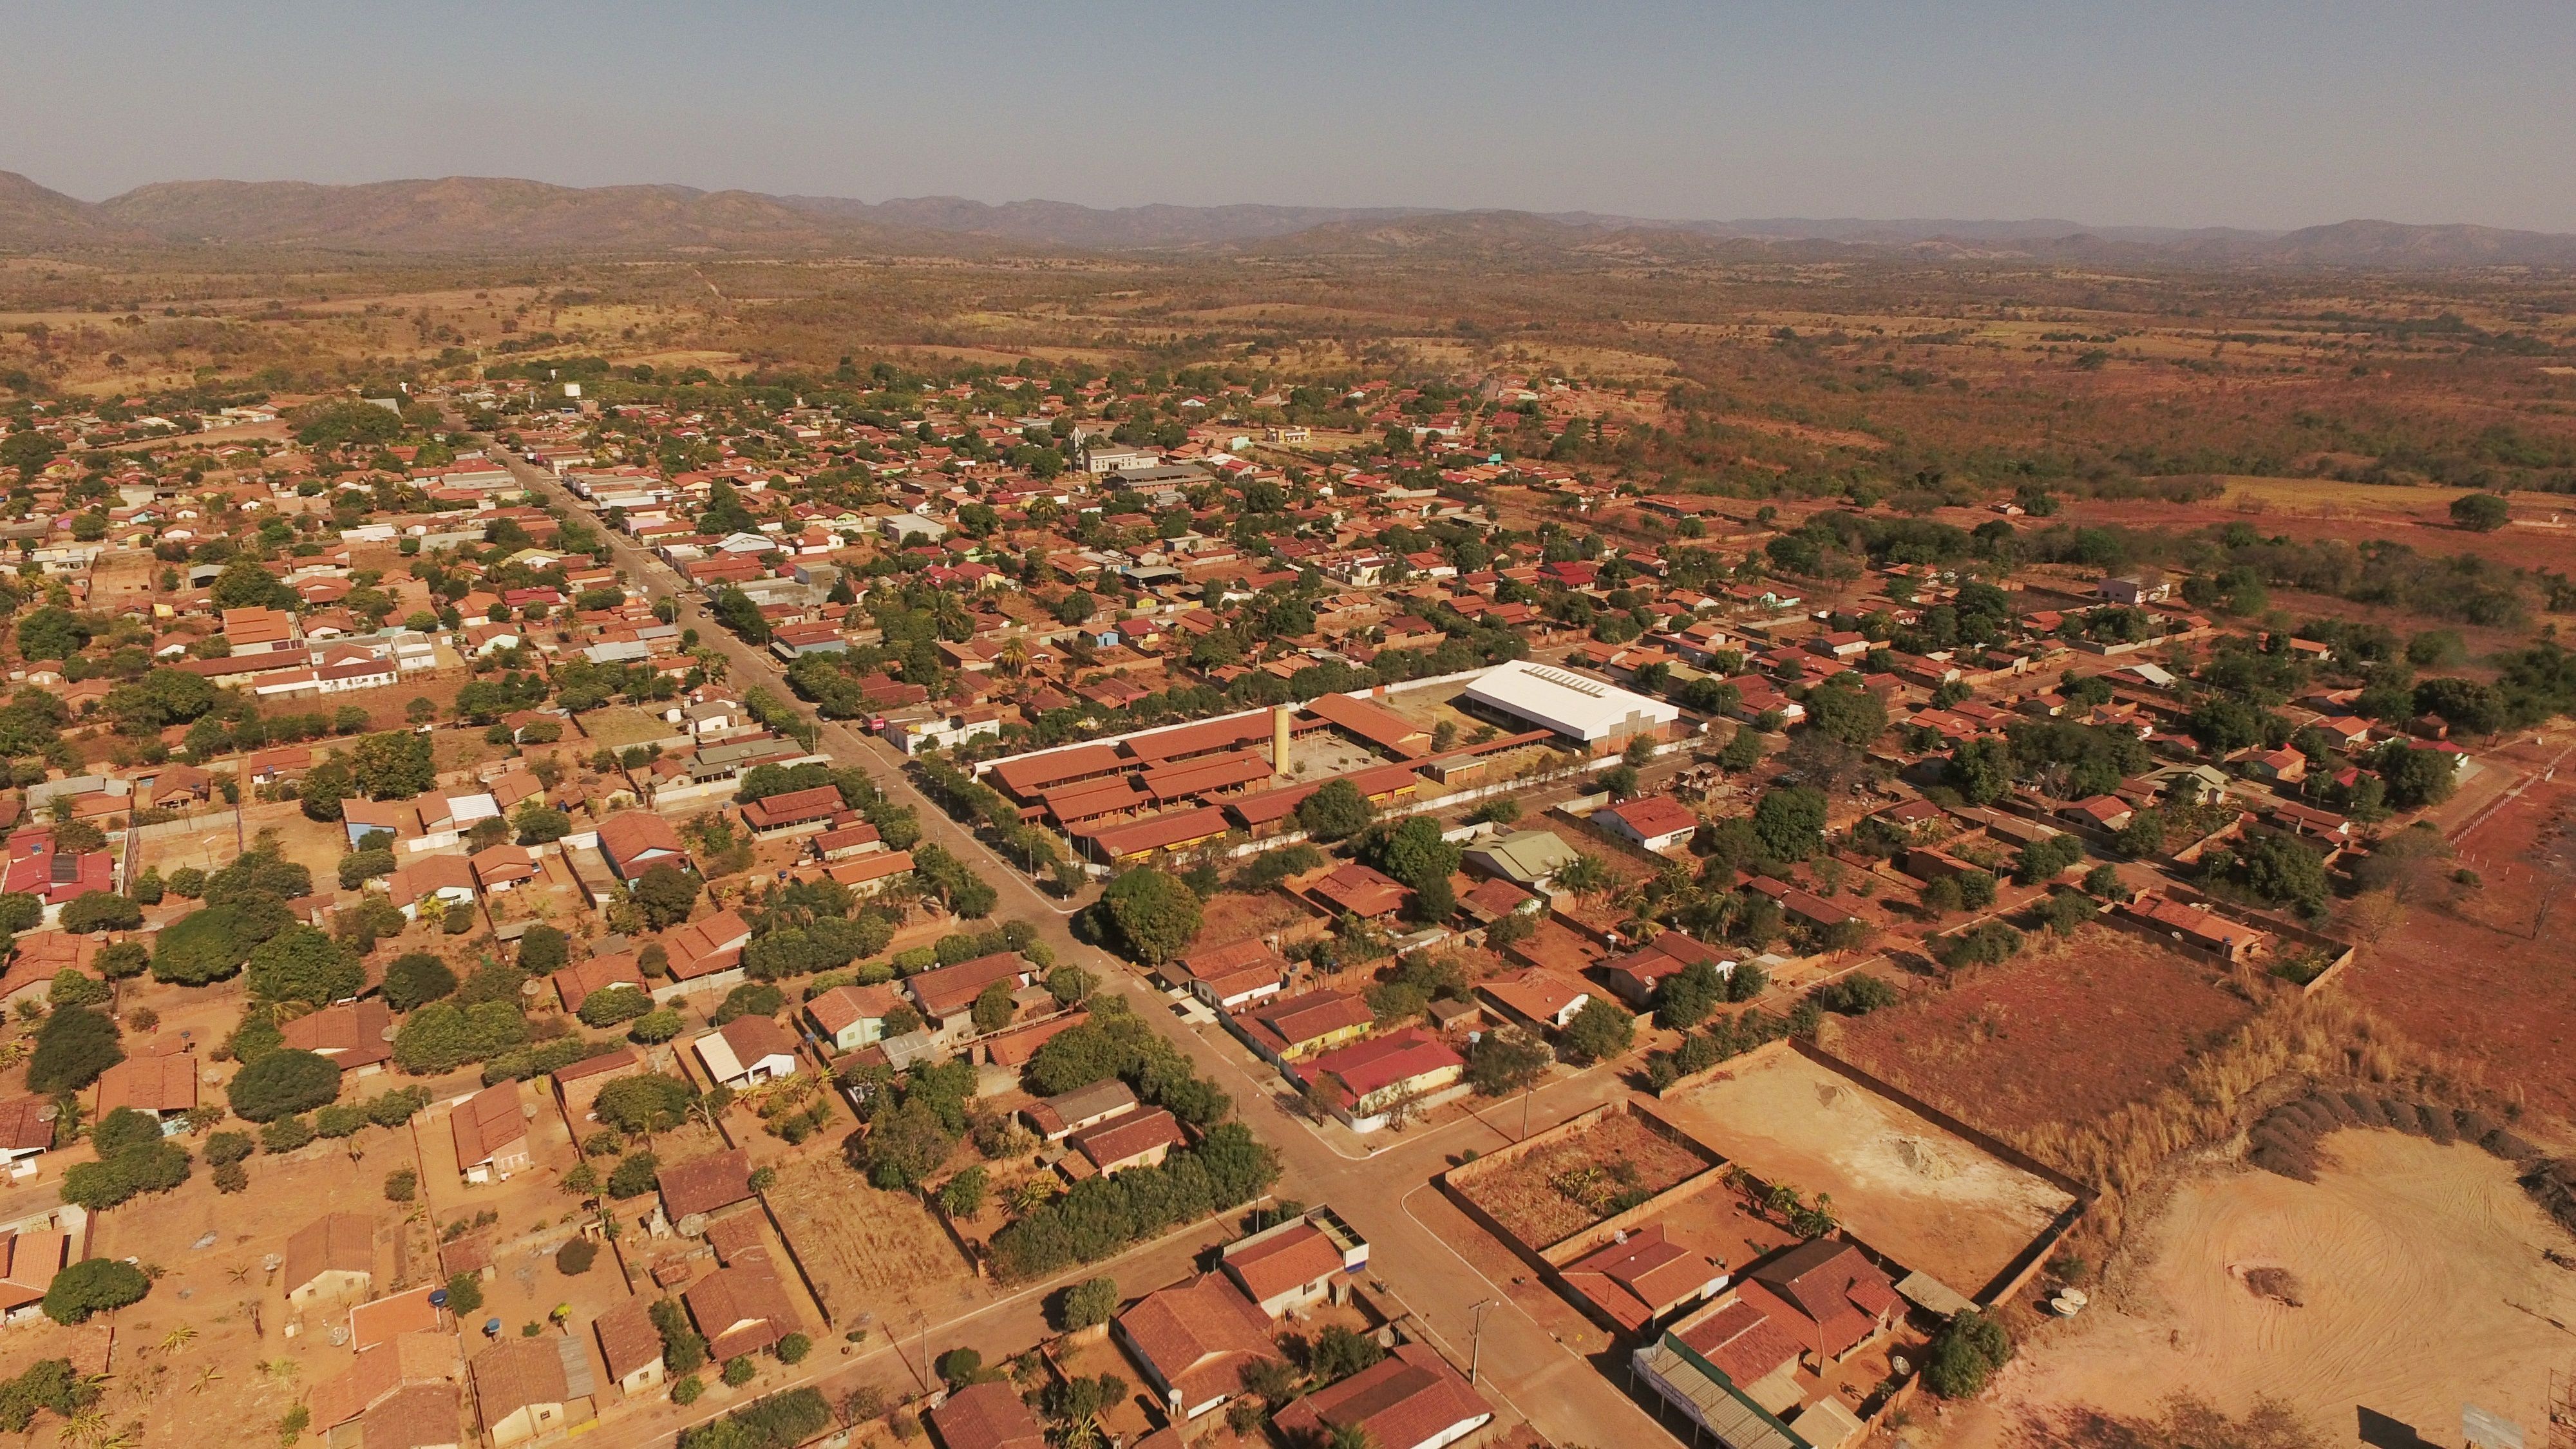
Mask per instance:
[[[2087,1122],[2177,1085],[2251,1003],[2218,972],[2092,926],[1842,1026],[1834,1052],[1973,1122]]]

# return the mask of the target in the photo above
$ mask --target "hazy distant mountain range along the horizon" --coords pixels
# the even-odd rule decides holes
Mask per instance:
[[[690,186],[549,186],[448,175],[314,186],[165,180],[80,201],[0,170],[0,250],[294,248],[358,253],[863,253],[1028,250],[1216,255],[1795,258],[1924,255],[2184,266],[2576,266],[2576,235],[2336,222],[2295,232],[2087,227],[2061,219],[1667,222],[1592,211],[1427,206],[1077,206],[958,196],[850,201]]]

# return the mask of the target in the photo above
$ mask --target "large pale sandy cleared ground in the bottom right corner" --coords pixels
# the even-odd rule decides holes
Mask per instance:
[[[2537,1441],[2545,1374],[2576,1356],[2550,1323],[2576,1318],[2576,1274],[2540,1253],[2571,1238],[2465,1142],[2336,1132],[2326,1155],[2316,1183],[2182,1181],[2092,1312],[2025,1343],[1947,1444],[2066,1444],[2081,1410],[2143,1418],[2174,1392],[2228,1413],[2267,1395],[2329,1444],[2360,1408],[2452,1444],[2470,1400]],[[2298,1307],[2249,1287],[2262,1269]]]

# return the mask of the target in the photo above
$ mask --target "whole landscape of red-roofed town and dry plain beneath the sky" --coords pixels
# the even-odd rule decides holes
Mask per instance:
[[[2566,273],[13,196],[28,1444],[2576,1446]]]

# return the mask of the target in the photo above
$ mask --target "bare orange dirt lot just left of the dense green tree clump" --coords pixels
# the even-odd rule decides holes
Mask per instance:
[[[989,1297],[920,1199],[871,1189],[829,1155],[781,1160],[765,1196],[835,1330],[873,1315],[902,1333],[914,1310],[953,1318]]]

